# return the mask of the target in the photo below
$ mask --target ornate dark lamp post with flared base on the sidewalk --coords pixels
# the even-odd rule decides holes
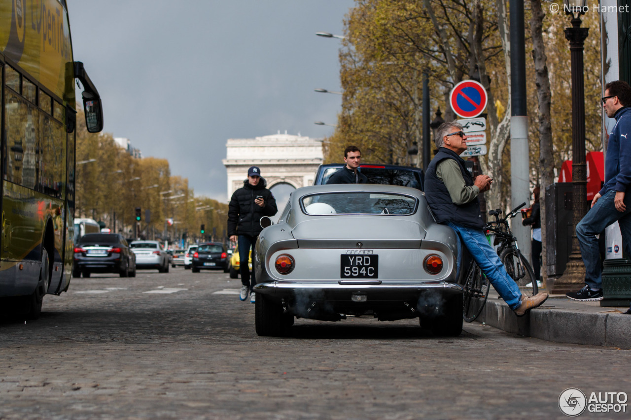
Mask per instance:
[[[583,45],[589,28],[581,28],[581,15],[588,9],[587,0],[563,0],[566,15],[572,16],[572,27],[565,28],[572,60],[572,212],[573,225],[589,210],[587,202],[587,170],[585,164],[585,95],[583,82]],[[585,280],[585,266],[576,235],[572,235],[572,253],[553,287],[553,293],[567,293],[580,288]]]

